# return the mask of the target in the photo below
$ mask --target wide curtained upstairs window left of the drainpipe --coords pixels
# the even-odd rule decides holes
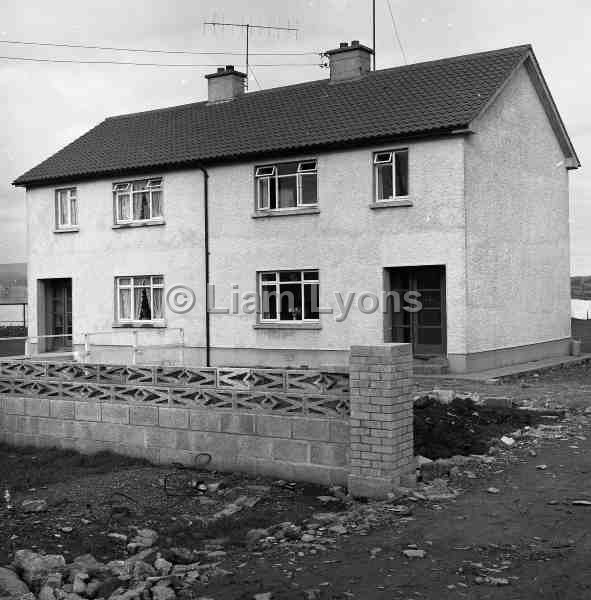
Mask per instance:
[[[144,223],[162,220],[162,179],[116,183],[115,223]]]

